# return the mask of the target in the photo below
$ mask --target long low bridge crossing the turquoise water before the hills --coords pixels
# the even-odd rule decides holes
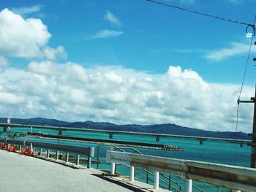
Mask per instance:
[[[6,123],[0,123],[0,127],[5,127]],[[143,132],[133,132],[133,131],[110,131],[110,130],[100,130],[100,129],[92,129],[92,128],[72,128],[72,127],[58,127],[58,126],[38,126],[38,125],[29,125],[29,124],[11,124],[12,128],[15,127],[26,127],[26,128],[45,128],[50,130],[57,131],[89,131],[89,132],[99,132],[109,134],[110,139],[113,138],[113,134],[135,134],[135,135],[143,135],[149,137],[156,137],[157,142],[159,142],[160,137],[175,137],[175,138],[184,138],[184,139],[196,139],[200,141],[200,144],[203,144],[205,140],[213,140],[213,141],[223,141],[223,142],[235,142],[240,143],[241,145],[251,143],[250,140],[244,139],[225,139],[225,138],[216,138],[216,137],[197,137],[197,136],[187,136],[187,135],[177,135],[177,134],[151,134],[151,133],[143,133]]]

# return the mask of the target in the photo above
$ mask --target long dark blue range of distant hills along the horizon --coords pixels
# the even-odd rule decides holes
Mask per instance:
[[[1,123],[5,123],[5,118],[0,118]],[[41,126],[61,126],[61,127],[73,127],[73,128],[92,128],[112,131],[134,131],[134,132],[145,132],[154,134],[179,134],[187,136],[198,136],[198,137],[219,137],[228,139],[251,139],[248,134],[244,132],[231,132],[231,131],[206,131],[198,128],[189,128],[183,126],[177,126],[175,124],[166,123],[150,126],[142,125],[116,125],[113,123],[97,123],[93,121],[85,122],[73,122],[69,123],[66,121],[45,119],[45,118],[31,118],[31,119],[18,119],[12,118],[11,123],[18,124],[33,124]]]

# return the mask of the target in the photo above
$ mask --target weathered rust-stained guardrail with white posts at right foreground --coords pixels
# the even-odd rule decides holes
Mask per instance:
[[[114,172],[115,164],[129,165],[131,167],[130,180],[134,177],[132,169],[135,167],[154,171],[154,188],[158,188],[159,172],[163,172],[186,178],[189,192],[192,191],[192,180],[235,191],[256,191],[256,169],[253,168],[116,151],[107,151],[106,161],[112,165],[111,173]]]

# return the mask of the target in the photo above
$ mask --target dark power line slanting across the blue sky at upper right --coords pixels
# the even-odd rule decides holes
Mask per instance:
[[[241,21],[238,21],[238,20],[232,20],[232,19],[228,19],[228,18],[222,18],[222,17],[219,17],[217,15],[211,15],[211,14],[204,13],[204,12],[197,12],[197,11],[194,11],[194,10],[191,10],[191,9],[186,9],[186,8],[174,6],[174,5],[171,5],[171,4],[165,4],[165,3],[162,3],[160,1],[155,1],[155,0],[146,0],[146,1],[149,1],[149,2],[154,3],[154,4],[159,4],[159,5],[162,5],[162,6],[165,6],[165,7],[179,9],[179,10],[186,11],[186,12],[192,12],[192,13],[195,13],[197,15],[203,15],[203,16],[206,16],[206,17],[209,17],[209,18],[225,20],[227,22],[238,23],[238,24],[245,25],[245,26],[255,26],[254,24],[244,23],[244,22],[241,22]]]

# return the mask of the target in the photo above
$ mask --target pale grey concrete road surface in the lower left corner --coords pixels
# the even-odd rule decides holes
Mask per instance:
[[[0,150],[0,192],[133,191],[95,173]]]

